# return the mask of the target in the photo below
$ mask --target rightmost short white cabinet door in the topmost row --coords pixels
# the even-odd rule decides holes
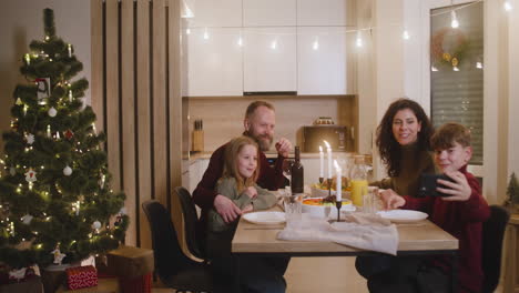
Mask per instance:
[[[352,0],[297,0],[297,26],[347,26]]]

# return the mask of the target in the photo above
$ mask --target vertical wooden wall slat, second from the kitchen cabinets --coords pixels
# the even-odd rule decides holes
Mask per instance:
[[[153,179],[154,198],[167,206],[166,19],[164,0],[153,1]]]

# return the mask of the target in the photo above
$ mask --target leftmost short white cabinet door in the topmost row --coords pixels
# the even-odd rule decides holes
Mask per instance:
[[[190,27],[242,27],[242,0],[183,0]]]

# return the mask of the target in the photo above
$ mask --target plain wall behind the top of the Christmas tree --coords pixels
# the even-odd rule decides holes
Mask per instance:
[[[27,82],[20,74],[24,53],[32,40],[43,39],[43,9],[54,10],[57,36],[72,43],[83,71],[78,78],[91,80],[90,1],[85,0],[10,0],[0,9],[0,132],[9,129],[12,93],[18,83]],[[85,92],[90,104],[90,91]],[[0,139],[0,153],[3,143]]]

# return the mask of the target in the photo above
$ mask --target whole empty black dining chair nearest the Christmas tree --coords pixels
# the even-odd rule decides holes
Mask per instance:
[[[142,203],[152,234],[155,273],[162,283],[175,292],[212,292],[213,280],[210,266],[196,262],[182,251],[171,214],[160,202]]]

